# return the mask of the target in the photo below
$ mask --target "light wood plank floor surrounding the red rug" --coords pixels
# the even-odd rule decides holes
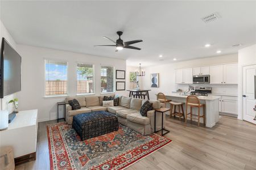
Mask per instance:
[[[36,161],[16,169],[49,169],[46,125],[55,122],[39,123]],[[173,142],[127,169],[256,169],[256,125],[228,116],[214,128],[186,126],[169,116],[166,125]]]

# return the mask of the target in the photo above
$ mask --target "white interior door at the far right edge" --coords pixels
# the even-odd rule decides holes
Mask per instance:
[[[243,120],[256,124],[256,65],[243,67]]]

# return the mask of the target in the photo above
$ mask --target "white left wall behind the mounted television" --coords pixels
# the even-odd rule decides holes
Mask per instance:
[[[5,37],[5,39],[9,42],[11,46],[16,50],[16,42],[14,41],[13,37],[11,37],[10,33],[5,28],[5,25],[3,25],[2,21],[0,20],[0,37],[1,37],[1,44],[2,44],[2,37]],[[9,96],[4,97],[3,99],[0,99],[0,110],[9,109],[9,113],[13,112],[13,104],[8,104],[8,102],[16,97],[16,94],[12,94]]]

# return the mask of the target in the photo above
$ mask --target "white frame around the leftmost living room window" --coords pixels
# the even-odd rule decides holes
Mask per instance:
[[[47,60],[66,62],[67,63],[67,94],[65,94],[65,95],[49,95],[49,96],[46,95],[46,61]],[[69,86],[68,86],[68,79],[69,79],[69,77],[68,77],[68,67],[69,66],[68,66],[68,61],[67,60],[56,59],[56,58],[54,58],[54,59],[44,58],[44,95],[43,95],[44,98],[57,98],[57,97],[67,97],[68,96],[68,88],[69,88]]]

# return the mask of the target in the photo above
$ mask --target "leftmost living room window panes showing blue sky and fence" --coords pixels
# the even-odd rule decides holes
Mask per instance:
[[[68,63],[46,59],[46,96],[67,95]]]

